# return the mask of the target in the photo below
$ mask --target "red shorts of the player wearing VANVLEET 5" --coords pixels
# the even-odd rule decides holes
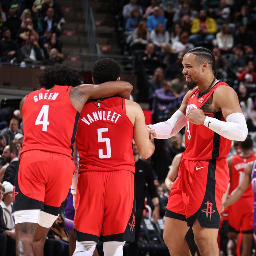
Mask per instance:
[[[77,184],[77,241],[130,241],[135,238],[134,174],[130,171],[81,172]]]

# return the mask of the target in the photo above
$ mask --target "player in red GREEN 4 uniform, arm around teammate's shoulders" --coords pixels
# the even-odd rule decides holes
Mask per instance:
[[[68,66],[46,68],[38,80],[42,88],[20,102],[25,137],[14,182],[17,255],[43,255],[46,234],[72,183],[73,144],[84,103],[116,94],[129,98],[132,90],[127,82],[78,85],[79,71]]]

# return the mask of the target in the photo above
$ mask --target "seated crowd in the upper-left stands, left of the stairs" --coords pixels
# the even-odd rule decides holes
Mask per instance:
[[[21,67],[61,63],[61,24],[66,21],[54,0],[0,1],[0,61]]]

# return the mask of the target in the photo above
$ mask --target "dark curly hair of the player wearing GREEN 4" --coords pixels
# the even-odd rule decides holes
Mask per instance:
[[[66,65],[56,65],[45,68],[37,75],[38,83],[45,89],[57,85],[77,86],[82,83],[80,71]]]

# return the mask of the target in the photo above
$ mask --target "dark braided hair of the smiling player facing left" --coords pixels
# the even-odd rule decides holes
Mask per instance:
[[[215,66],[215,57],[214,57],[211,50],[209,50],[205,47],[199,46],[199,47],[196,47],[194,49],[189,50],[187,53],[195,54],[196,55],[196,59],[195,59],[196,61],[205,61],[206,60],[212,66],[213,75],[214,75],[214,77],[216,77],[217,72],[214,68],[214,66]]]

